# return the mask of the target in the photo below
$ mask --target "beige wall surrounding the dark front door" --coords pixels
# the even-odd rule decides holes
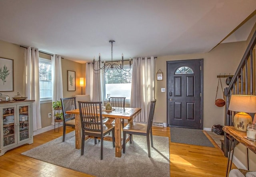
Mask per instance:
[[[156,122],[166,122],[166,61],[185,60],[185,59],[204,59],[204,128],[211,128],[214,124],[224,124],[225,107],[214,105],[219,74],[234,74],[236,68],[246,49],[246,42],[232,42],[220,44],[212,51],[204,54],[186,54],[179,56],[160,56],[156,59],[156,71],[161,69],[163,80],[156,81],[156,103],[155,120]],[[222,78],[223,88],[227,87],[226,78]],[[166,88],[166,92],[161,92],[161,88]],[[221,87],[219,86],[218,98],[221,98]]]

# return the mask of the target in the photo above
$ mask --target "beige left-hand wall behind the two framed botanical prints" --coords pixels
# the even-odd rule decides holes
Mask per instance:
[[[24,50],[25,48],[21,48],[19,45],[0,40],[0,57],[14,60],[14,91],[0,92],[10,96],[10,99],[14,97],[17,92],[26,96],[24,90]],[[39,56],[50,60],[50,55],[39,53]],[[68,91],[67,89],[67,70],[76,72],[76,91]],[[71,97],[81,94],[81,87],[79,86],[80,77],[85,78],[85,64],[62,59],[63,97]],[[84,87],[83,94],[85,94]],[[52,112],[52,103],[41,103],[40,108],[42,128],[48,127],[52,122],[52,119],[48,118],[48,113]]]

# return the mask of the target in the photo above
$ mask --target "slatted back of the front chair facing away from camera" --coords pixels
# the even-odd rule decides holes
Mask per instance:
[[[103,131],[101,105],[101,101],[78,101],[83,131]]]

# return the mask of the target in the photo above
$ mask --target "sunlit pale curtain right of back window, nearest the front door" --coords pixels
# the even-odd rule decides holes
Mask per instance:
[[[133,58],[132,91],[130,107],[140,107],[141,112],[134,117],[136,122],[148,122],[150,101],[155,99],[156,60]]]

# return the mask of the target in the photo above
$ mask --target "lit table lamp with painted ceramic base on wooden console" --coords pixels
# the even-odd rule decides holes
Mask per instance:
[[[256,113],[255,95],[231,95],[228,109],[236,111],[234,116],[234,128],[246,132],[248,123],[252,123],[252,117],[248,113]]]

